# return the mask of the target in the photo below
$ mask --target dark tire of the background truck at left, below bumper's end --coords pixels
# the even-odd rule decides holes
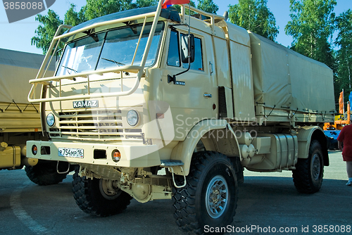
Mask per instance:
[[[27,177],[34,184],[41,186],[58,184],[66,178],[67,174],[58,174],[56,171],[57,162],[41,161],[34,166],[25,166]]]

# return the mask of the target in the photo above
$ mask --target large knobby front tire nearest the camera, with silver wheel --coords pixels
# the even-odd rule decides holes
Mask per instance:
[[[183,177],[177,177],[177,185],[182,184],[184,184]],[[212,207],[210,197],[213,196],[214,199],[215,194],[211,192],[219,188],[221,191],[226,190],[226,193],[224,191],[219,193],[220,198],[226,198],[226,204],[222,204],[224,209],[220,208],[217,214],[218,211],[213,210],[216,207]],[[176,224],[183,231],[204,234],[206,225],[226,227],[232,223],[237,208],[238,186],[232,162],[222,153],[212,151],[194,153],[186,186],[174,187],[172,191],[174,217]],[[215,198],[218,199],[219,196]]]

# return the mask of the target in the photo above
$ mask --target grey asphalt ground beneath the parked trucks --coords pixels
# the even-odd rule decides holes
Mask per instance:
[[[352,186],[346,186],[341,152],[329,152],[318,193],[298,193],[291,172],[245,170],[234,222],[227,234],[352,234]],[[24,170],[0,171],[0,234],[184,234],[171,201],[138,203],[111,217],[78,208],[72,175],[53,186],[37,186]],[[208,231],[220,228],[208,228]],[[236,233],[237,231],[237,233]]]

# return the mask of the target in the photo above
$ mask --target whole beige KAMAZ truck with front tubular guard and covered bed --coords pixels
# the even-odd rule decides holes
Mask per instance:
[[[231,224],[244,167],[291,170],[298,191],[319,191],[332,70],[222,16],[161,4],[58,29],[55,76],[30,80],[49,141],[27,141],[27,157],[80,165],[84,212],[172,199],[177,225],[194,233]]]

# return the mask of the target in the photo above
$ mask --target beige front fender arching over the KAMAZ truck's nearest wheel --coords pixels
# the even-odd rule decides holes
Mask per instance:
[[[224,129],[226,136],[216,136],[214,130]],[[230,136],[229,136],[230,135]],[[210,138],[208,137],[210,136]],[[214,138],[212,138],[214,137]],[[216,138],[218,137],[218,138]],[[183,172],[181,167],[173,167],[175,174],[188,175],[191,158],[199,140],[202,140],[207,151],[217,151],[228,156],[241,158],[239,143],[230,124],[226,120],[202,120],[197,123],[187,134],[184,141],[180,141],[172,149],[171,159],[181,160],[184,163]]]

